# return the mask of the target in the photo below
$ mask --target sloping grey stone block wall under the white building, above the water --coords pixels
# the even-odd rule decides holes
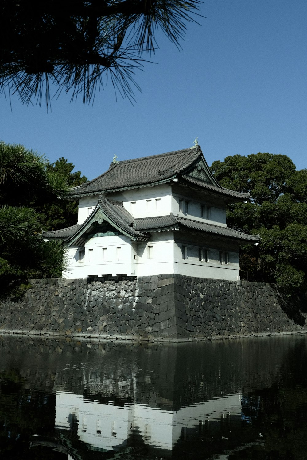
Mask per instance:
[[[180,275],[34,280],[0,309],[3,332],[142,340],[304,331],[305,321],[290,319],[266,283]]]

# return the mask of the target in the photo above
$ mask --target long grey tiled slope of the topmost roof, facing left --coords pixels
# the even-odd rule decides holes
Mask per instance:
[[[184,171],[201,157],[200,146],[193,149],[176,150],[161,155],[145,156],[134,160],[118,161],[97,178],[74,187],[70,196],[82,196],[127,187],[155,184],[172,178]]]

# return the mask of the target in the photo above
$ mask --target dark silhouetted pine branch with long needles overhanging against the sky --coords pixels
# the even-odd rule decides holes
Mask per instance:
[[[134,71],[154,52],[156,31],[179,45],[199,0],[3,0],[0,89],[23,103],[50,100],[50,85],[83,103],[107,78],[133,97]]]

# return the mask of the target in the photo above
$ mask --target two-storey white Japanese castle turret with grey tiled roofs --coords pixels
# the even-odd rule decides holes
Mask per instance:
[[[249,194],[221,187],[200,146],[113,162],[70,190],[78,223],[43,232],[63,239],[65,278],[177,273],[237,280],[239,245],[257,243],[226,225],[226,205]]]

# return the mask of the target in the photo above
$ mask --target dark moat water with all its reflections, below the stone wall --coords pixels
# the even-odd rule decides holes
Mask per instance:
[[[0,337],[0,459],[307,459],[307,337]]]

